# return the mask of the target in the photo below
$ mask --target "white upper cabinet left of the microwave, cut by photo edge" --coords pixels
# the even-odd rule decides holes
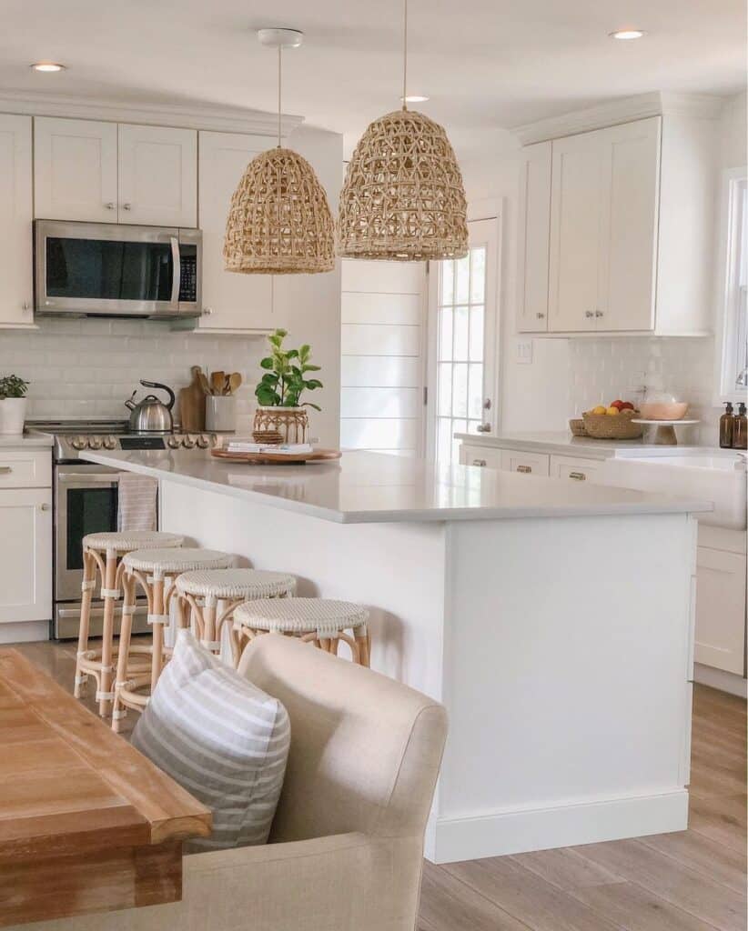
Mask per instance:
[[[34,324],[31,117],[0,114],[0,327]]]

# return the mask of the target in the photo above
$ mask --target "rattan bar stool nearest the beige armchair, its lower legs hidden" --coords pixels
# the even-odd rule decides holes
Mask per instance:
[[[368,619],[366,608],[350,601],[264,599],[240,604],[234,612],[234,629],[238,634],[239,647],[243,641],[251,641],[264,633],[298,637],[333,654],[337,654],[339,642],[345,641],[350,647],[353,662],[368,666],[372,650]]]

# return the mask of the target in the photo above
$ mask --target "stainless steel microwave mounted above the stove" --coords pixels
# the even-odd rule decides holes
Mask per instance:
[[[34,221],[37,314],[198,317],[201,276],[200,230]]]

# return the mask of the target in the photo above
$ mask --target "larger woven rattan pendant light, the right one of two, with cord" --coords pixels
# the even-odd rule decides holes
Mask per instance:
[[[465,188],[444,129],[408,110],[408,0],[403,0],[402,109],[374,120],[348,163],[338,255],[419,262],[468,252]]]

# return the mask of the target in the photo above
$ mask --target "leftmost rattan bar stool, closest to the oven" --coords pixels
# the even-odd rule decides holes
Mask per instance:
[[[130,531],[125,533],[88,533],[83,538],[83,583],[81,585],[80,625],[78,627],[78,653],[75,659],[74,695],[85,695],[88,676],[96,681],[96,699],[99,714],[105,716],[114,700],[112,678],[114,674],[115,606],[122,590],[122,557],[136,549],[156,546],[182,546],[184,537],[161,531]],[[91,601],[96,587],[96,573],[102,580],[104,616],[101,650],[88,649]],[[131,618],[130,618],[131,622]]]

